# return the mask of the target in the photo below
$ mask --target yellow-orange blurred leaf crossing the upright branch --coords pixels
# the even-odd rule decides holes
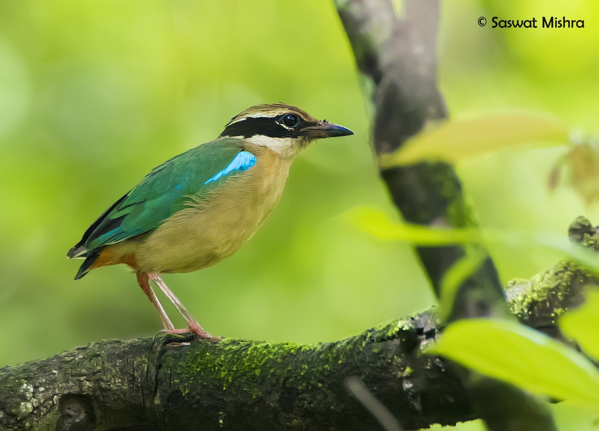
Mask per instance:
[[[509,113],[470,120],[450,120],[422,132],[391,154],[382,155],[383,168],[422,160],[458,162],[523,144],[536,147],[565,145],[568,131],[555,119],[539,114]]]

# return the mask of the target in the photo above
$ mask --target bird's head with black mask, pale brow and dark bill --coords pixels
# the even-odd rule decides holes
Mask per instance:
[[[234,116],[220,137],[235,137],[293,157],[318,138],[353,135],[350,129],[317,120],[298,107],[284,103],[256,105]]]

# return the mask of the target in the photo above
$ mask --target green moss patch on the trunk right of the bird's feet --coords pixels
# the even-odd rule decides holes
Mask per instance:
[[[183,393],[187,396],[198,393],[205,385],[222,387],[223,393],[237,391],[247,399],[255,399],[265,396],[261,389],[261,382],[265,381],[270,384],[269,391],[273,384],[302,391],[317,390],[331,373],[355,361],[362,352],[370,355],[376,349],[379,355],[373,356],[373,360],[388,364],[394,352],[388,353],[387,358],[379,342],[400,337],[401,331],[412,327],[410,320],[392,320],[361,336],[318,345],[240,340],[223,340],[210,346],[196,343],[187,351],[181,367],[183,372],[176,378],[183,383]]]

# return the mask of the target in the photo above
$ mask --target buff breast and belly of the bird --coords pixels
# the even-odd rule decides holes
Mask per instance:
[[[258,161],[227,179],[207,198],[190,197],[143,239],[135,253],[138,269],[172,273],[202,269],[232,255],[258,230],[279,201],[289,161],[264,147],[252,151]]]

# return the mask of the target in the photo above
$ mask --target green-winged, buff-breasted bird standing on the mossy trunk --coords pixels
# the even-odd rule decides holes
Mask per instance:
[[[234,254],[276,206],[295,156],[318,138],[352,134],[284,103],[247,108],[215,140],[153,168],[108,207],[66,255],[85,259],[75,280],[99,267],[125,264],[158,312],[162,331],[216,339],[161,275],[204,269]],[[150,280],[186,328],[174,327]]]

